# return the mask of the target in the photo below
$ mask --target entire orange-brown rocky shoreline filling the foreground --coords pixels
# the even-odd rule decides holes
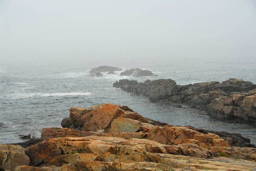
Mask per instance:
[[[2,170],[250,170],[256,149],[228,133],[173,126],[123,105],[71,108],[64,128],[43,128],[41,142],[0,145]],[[227,138],[226,137],[226,138]],[[244,141],[249,141],[246,138]]]

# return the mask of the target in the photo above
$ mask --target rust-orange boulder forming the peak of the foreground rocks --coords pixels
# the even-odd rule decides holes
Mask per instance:
[[[117,117],[130,118],[143,123],[154,125],[166,125],[148,118],[144,118],[131,108],[122,105],[101,104],[86,108],[71,108],[70,117],[64,118],[61,126],[64,128],[76,128],[84,131],[98,131],[108,129],[110,123]]]

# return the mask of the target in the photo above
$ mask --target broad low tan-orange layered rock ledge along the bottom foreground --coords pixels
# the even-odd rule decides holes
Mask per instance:
[[[210,150],[190,143],[164,145],[147,139],[88,136],[53,138],[27,147],[26,154],[31,166],[54,166],[56,170],[250,170],[256,166],[255,162],[232,159],[246,153],[246,159],[255,160],[255,149],[236,147],[234,153],[231,148],[216,147],[216,153],[225,151],[230,158],[207,159],[212,156]]]

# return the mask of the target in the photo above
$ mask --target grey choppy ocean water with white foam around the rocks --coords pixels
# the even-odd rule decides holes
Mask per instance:
[[[139,67],[158,76],[132,77],[118,74],[89,77],[99,65],[125,69]],[[243,59],[151,59],[100,60],[91,62],[62,61],[0,64],[0,143],[21,142],[19,134],[40,137],[42,128],[60,127],[70,107],[88,108],[101,103],[127,105],[140,115],[172,125],[192,125],[207,130],[241,133],[256,144],[256,124],[223,121],[205,112],[176,108],[161,102],[152,103],[145,96],[122,92],[112,87],[119,79],[171,78],[177,84],[224,81],[239,78],[256,84],[256,57]]]

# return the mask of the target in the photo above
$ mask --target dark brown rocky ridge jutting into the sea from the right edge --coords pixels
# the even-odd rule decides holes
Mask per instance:
[[[151,101],[183,103],[204,110],[212,117],[256,122],[256,85],[242,79],[230,78],[222,83],[212,81],[193,85],[176,85],[171,79],[144,83],[123,79],[113,83],[113,86],[146,95]]]

